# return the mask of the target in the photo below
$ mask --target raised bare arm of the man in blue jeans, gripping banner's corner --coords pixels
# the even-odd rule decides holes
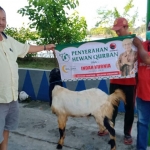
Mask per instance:
[[[141,40],[139,40],[137,37],[134,38],[133,44],[137,47],[138,53],[140,58],[145,64],[150,65],[150,55],[148,52],[144,49],[143,44]]]

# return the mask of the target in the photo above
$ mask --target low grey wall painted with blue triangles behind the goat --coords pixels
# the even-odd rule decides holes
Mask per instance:
[[[19,91],[25,91],[32,100],[49,101],[49,70],[19,69]],[[64,87],[81,91],[89,88],[99,88],[109,94],[109,80],[80,80],[63,83]],[[119,112],[124,112],[123,102]]]

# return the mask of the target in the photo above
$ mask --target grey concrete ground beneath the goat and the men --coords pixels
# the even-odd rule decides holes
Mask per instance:
[[[20,103],[19,128],[10,133],[8,150],[55,150],[59,139],[57,117],[51,113],[47,102]],[[136,150],[135,116],[132,136],[133,144],[123,143],[124,114],[116,119],[117,150]],[[110,150],[109,136],[97,135],[98,125],[93,117],[69,118],[63,150]],[[148,149],[150,150],[150,149]]]

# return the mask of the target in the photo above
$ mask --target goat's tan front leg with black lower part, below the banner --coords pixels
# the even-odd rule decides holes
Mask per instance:
[[[62,149],[62,146],[64,144],[66,122],[67,122],[67,116],[65,115],[58,116],[60,139],[58,141],[57,149]]]

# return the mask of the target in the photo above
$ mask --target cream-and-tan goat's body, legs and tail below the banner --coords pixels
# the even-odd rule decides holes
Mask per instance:
[[[100,130],[108,130],[111,150],[115,150],[115,130],[111,119],[114,106],[118,107],[120,100],[125,102],[125,95],[120,89],[117,89],[111,95],[107,95],[97,88],[77,92],[56,85],[52,91],[51,110],[58,117],[60,139],[57,149],[62,149],[66,122],[69,116],[84,117],[92,115]]]

